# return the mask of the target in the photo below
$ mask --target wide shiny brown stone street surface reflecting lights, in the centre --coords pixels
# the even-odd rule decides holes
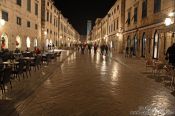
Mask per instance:
[[[25,116],[173,116],[175,97],[108,57],[74,53],[17,111]]]

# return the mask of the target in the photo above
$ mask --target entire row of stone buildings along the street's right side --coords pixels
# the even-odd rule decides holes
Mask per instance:
[[[128,47],[137,57],[164,59],[175,42],[174,11],[174,0],[117,0],[93,27],[92,42],[107,43],[119,53]]]

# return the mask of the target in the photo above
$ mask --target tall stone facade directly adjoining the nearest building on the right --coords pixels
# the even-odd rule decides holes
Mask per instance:
[[[117,0],[116,3],[109,10],[108,16],[108,44],[111,49],[121,53],[123,26],[124,26],[124,4],[125,0]]]

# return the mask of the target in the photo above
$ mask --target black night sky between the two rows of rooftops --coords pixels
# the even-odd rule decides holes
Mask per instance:
[[[103,18],[116,0],[55,0],[56,7],[68,18],[73,27],[86,34],[87,20]]]

